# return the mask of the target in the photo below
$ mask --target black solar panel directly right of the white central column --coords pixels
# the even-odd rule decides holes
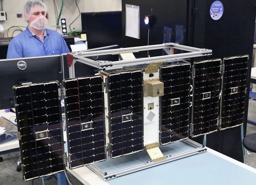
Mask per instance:
[[[188,138],[190,64],[174,64],[160,69],[164,96],[160,97],[160,143]]]

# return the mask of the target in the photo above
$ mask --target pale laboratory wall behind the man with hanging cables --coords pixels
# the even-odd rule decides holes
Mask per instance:
[[[17,14],[23,13],[23,5],[27,0],[2,0],[3,11],[7,14],[6,21],[0,21],[0,24],[4,27],[4,30],[9,29],[12,26],[23,26],[26,27],[27,23],[23,18],[17,18]],[[53,0],[44,0],[43,1],[49,12],[49,20],[47,28],[55,30],[56,27],[56,18],[54,12],[54,1]],[[58,13],[61,9],[62,0],[55,0],[57,5]],[[68,31],[69,24],[77,18],[79,11],[77,5],[81,12],[107,12],[107,11],[121,11],[122,10],[122,0],[65,0],[63,6],[61,18],[66,18]],[[25,29],[21,27],[21,29]],[[17,30],[17,27],[10,28],[8,32],[8,37],[18,35],[20,31]],[[71,30],[81,30],[81,16],[71,25]],[[16,30],[16,31],[14,31]],[[0,32],[0,37],[7,37],[7,32]]]

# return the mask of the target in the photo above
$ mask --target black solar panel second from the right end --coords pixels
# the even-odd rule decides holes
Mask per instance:
[[[221,60],[194,63],[191,136],[218,130]]]

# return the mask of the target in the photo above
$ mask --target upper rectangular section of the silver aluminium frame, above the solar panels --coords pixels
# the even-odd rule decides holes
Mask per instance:
[[[109,55],[109,54],[118,55],[121,53],[131,53],[131,52],[135,53],[135,52],[149,51],[149,50],[156,50],[156,49],[164,49],[167,55],[137,58],[137,59],[123,60],[123,61],[94,61],[94,60],[91,60],[90,58],[86,58],[89,56]],[[173,49],[180,49],[188,53],[173,54]],[[184,60],[185,58],[211,55],[212,50],[179,45],[176,43],[165,43],[165,44],[150,45],[150,46],[106,49],[106,50],[91,51],[91,52],[90,51],[74,52],[71,54],[73,54],[74,60],[71,66],[69,67],[69,78],[75,78],[75,62],[77,61],[93,66],[94,68],[113,70],[113,69],[121,69],[123,68],[123,66],[150,64],[154,62],[167,62],[167,61],[172,62],[172,61]]]

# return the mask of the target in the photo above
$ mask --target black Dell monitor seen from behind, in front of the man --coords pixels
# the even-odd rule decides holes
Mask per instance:
[[[0,60],[0,109],[12,108],[15,85],[52,80],[62,82],[60,55]]]

